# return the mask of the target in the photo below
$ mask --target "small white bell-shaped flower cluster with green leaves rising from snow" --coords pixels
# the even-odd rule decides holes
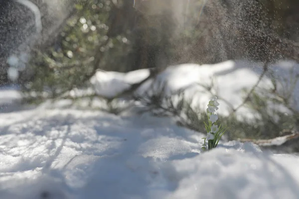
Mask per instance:
[[[217,101],[217,97],[214,97],[211,99],[208,103],[207,108],[207,116],[208,116],[208,123],[204,122],[207,136],[204,139],[204,144],[202,145],[203,150],[212,149],[215,148],[221,138],[221,136],[224,134],[226,129],[220,128],[221,125],[218,127],[218,115],[215,113],[216,110],[218,110],[219,102]],[[206,145],[206,142],[208,142],[208,145]]]

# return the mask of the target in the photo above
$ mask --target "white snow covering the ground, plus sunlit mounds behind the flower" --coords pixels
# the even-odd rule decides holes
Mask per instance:
[[[169,91],[192,93],[201,88],[191,88],[194,82],[217,76],[219,95],[238,105],[239,90],[255,84],[260,72],[228,61],[173,66],[158,78],[168,80]],[[97,92],[111,97],[148,74],[99,72],[93,83],[105,82]],[[201,95],[206,104],[210,94]],[[19,99],[14,87],[0,90],[1,199],[298,199],[296,155],[238,141],[202,153],[204,134],[171,118],[80,110],[67,101],[24,109]]]

